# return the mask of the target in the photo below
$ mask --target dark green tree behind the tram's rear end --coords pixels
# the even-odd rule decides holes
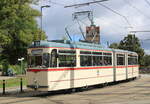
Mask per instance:
[[[128,34],[127,37],[120,41],[118,48],[136,52],[139,55],[139,64],[144,64],[144,49],[141,48],[140,41],[135,35]]]

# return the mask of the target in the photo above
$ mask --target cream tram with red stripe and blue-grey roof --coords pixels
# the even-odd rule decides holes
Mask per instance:
[[[27,87],[56,91],[139,76],[135,52],[70,41],[36,41],[28,48]]]

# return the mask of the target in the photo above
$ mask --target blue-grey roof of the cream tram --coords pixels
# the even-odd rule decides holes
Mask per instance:
[[[100,44],[88,43],[88,42],[72,42],[69,40],[51,40],[51,41],[35,41],[29,48],[46,48],[46,47],[57,47],[57,48],[79,48],[79,49],[89,49],[89,50],[104,50],[104,51],[115,51],[115,52],[128,52],[131,54],[136,54],[135,52],[104,48]]]

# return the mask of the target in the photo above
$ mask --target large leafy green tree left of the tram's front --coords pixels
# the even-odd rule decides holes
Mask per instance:
[[[0,0],[0,47],[1,60],[16,64],[17,59],[26,56],[26,49],[34,40],[45,39],[45,33],[38,27],[36,17],[40,12],[31,7],[37,0]]]

